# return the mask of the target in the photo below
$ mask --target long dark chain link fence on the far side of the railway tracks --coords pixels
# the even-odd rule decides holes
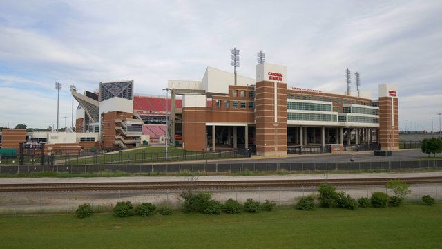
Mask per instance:
[[[441,168],[442,160],[408,160],[345,163],[169,163],[169,164],[97,164],[97,165],[0,165],[0,174],[59,172],[88,174],[97,172],[180,173],[180,172],[302,172],[364,171]]]

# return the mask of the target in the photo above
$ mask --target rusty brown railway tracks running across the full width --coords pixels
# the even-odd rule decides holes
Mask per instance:
[[[67,192],[109,190],[196,190],[252,189],[275,187],[316,187],[321,183],[334,186],[385,185],[399,179],[410,185],[442,183],[442,176],[402,178],[346,178],[309,180],[243,180],[243,181],[164,181],[164,182],[117,182],[117,183],[11,183],[0,184],[0,192]]]

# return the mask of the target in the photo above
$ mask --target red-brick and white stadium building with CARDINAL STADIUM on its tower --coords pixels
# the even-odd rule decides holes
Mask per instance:
[[[44,142],[49,154],[169,138],[187,150],[244,148],[261,156],[398,149],[397,86],[379,85],[372,99],[369,91],[301,89],[287,80],[285,66],[263,63],[255,79],[208,67],[200,81],[169,80],[170,98],[134,95],[133,80],[100,82],[95,92],[71,90],[79,102],[76,133],[3,129],[0,147]]]

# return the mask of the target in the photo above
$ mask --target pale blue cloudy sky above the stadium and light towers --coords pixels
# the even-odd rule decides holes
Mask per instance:
[[[99,82],[135,81],[164,95],[167,80],[202,80],[207,66],[254,77],[256,52],[287,66],[288,86],[345,91],[397,84],[401,130],[439,131],[442,1],[0,0],[0,125],[70,126],[72,97]],[[354,80],[353,80],[354,82]],[[352,83],[352,90],[356,89]],[[75,103],[75,106],[77,103]]]

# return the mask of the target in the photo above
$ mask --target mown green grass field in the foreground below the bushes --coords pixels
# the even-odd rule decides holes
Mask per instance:
[[[440,248],[442,204],[258,214],[0,218],[0,248]]]

